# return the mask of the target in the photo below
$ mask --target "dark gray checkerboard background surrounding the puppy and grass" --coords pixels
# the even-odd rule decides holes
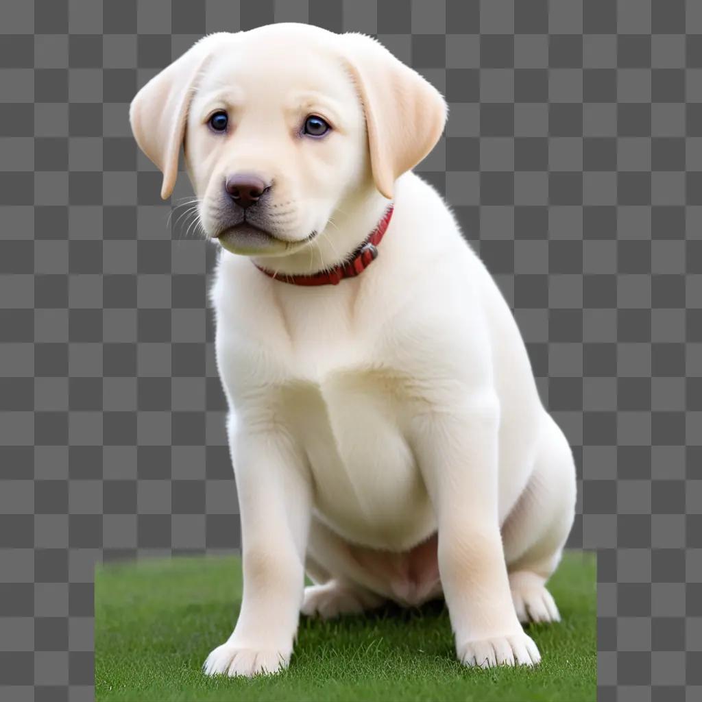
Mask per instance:
[[[0,3],[0,698],[92,698],[96,561],[237,548],[216,252],[127,110],[202,34],[286,20],[375,34],[447,96],[418,171],[574,446],[600,700],[701,699],[698,0]]]

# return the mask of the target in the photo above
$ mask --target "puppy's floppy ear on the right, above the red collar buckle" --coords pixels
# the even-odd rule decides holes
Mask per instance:
[[[376,187],[393,184],[416,166],[444,131],[448,107],[437,89],[365,34],[344,34],[346,58],[366,113]]]

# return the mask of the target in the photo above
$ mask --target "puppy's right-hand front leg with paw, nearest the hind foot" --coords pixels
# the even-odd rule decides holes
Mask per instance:
[[[498,405],[491,395],[414,420],[413,444],[437,515],[438,560],[458,658],[534,665],[519,624],[498,518]]]

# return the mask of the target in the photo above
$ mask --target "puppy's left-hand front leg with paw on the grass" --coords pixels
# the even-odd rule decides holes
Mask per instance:
[[[236,436],[233,436],[233,434]],[[286,668],[296,637],[311,513],[305,464],[286,437],[230,432],[241,511],[244,593],[227,642],[204,663],[208,675]]]

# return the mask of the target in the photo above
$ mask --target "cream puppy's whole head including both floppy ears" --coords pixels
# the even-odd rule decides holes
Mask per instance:
[[[184,145],[208,236],[282,256],[350,197],[392,198],[437,143],[446,102],[370,37],[279,24],[204,37],[140,90],[130,120],[164,174],[161,197]]]

